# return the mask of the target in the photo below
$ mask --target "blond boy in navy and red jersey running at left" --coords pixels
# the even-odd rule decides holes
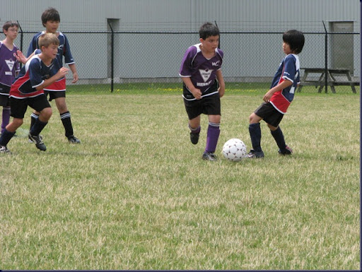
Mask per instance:
[[[68,69],[61,67],[56,59],[58,45],[59,40],[55,35],[42,35],[39,40],[41,53],[26,62],[11,85],[9,96],[13,122],[8,124],[1,134],[0,153],[10,153],[7,144],[13,138],[16,129],[23,124],[28,106],[40,113],[30,129],[29,138],[38,149],[47,150],[39,134],[52,116],[52,108],[44,95],[43,88],[59,81],[68,73]]]

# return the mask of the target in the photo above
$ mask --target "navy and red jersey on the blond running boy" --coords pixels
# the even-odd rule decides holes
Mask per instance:
[[[23,99],[42,95],[44,90],[36,88],[47,78],[54,76],[61,68],[57,59],[53,59],[52,64],[45,65],[39,55],[34,55],[27,61],[11,85],[10,97]]]

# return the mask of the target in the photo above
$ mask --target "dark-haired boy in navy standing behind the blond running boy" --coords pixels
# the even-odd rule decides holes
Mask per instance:
[[[45,27],[45,31],[38,32],[34,37],[32,42],[30,42],[28,54],[27,56],[31,56],[34,53],[35,49],[39,49],[38,39],[40,35],[43,33],[53,33],[57,35],[59,39],[59,48],[57,59],[59,64],[63,65],[63,57],[65,64],[68,64],[69,69],[73,73],[73,81],[72,83],[76,83],[78,81],[78,73],[76,71],[76,64],[71,55],[71,50],[69,47],[69,42],[66,36],[62,32],[58,32],[57,29],[60,23],[60,16],[58,11],[55,8],[47,8],[42,13],[42,25]],[[81,141],[74,136],[73,125],[71,124],[71,114],[66,106],[65,100],[65,91],[66,91],[66,79],[62,79],[62,81],[57,81],[52,85],[49,85],[45,88],[45,95],[49,94],[49,101],[55,100],[55,105],[57,105],[57,109],[60,114],[60,119],[62,120],[62,124],[65,130],[65,136],[68,138],[69,143],[81,143]],[[36,119],[39,117],[39,112],[34,111],[31,114],[31,123],[30,128],[35,124]]]

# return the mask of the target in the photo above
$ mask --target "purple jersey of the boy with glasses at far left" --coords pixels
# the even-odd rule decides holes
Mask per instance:
[[[16,72],[20,71],[20,64],[14,56],[17,50],[18,47],[16,47],[16,45],[13,45],[13,49],[10,50],[0,42],[0,83],[9,88],[11,83],[13,83]],[[1,93],[1,90],[0,94],[8,95],[8,93]]]

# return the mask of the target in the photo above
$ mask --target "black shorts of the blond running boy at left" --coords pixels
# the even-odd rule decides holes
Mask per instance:
[[[11,116],[18,119],[24,118],[28,106],[37,112],[41,112],[46,107],[50,107],[50,104],[45,95],[37,95],[35,97],[28,97],[24,99],[10,97],[10,105]]]

